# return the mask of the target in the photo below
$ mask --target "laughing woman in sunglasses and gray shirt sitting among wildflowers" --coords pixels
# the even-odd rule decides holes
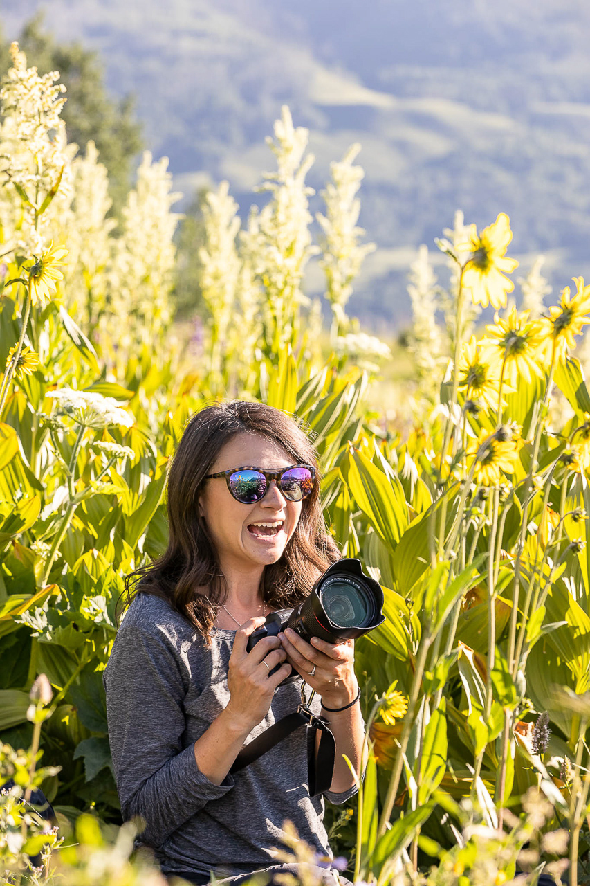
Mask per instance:
[[[330,711],[337,751],[326,797],[343,803],[355,792],[342,756],[359,771],[353,641],[309,644],[287,629],[246,651],[265,617],[284,620],[339,558],[323,526],[314,448],[278,409],[215,404],[183,432],[167,509],[167,551],[136,571],[133,594],[128,577],[130,605],[105,670],[123,818],[140,815],[138,841],[163,872],[195,883],[211,871],[239,882],[280,870],[285,820],[331,859],[322,797],[307,787],[310,730],[229,772],[245,742],[297,710],[300,680],[281,685],[292,665],[317,693],[314,713]]]

